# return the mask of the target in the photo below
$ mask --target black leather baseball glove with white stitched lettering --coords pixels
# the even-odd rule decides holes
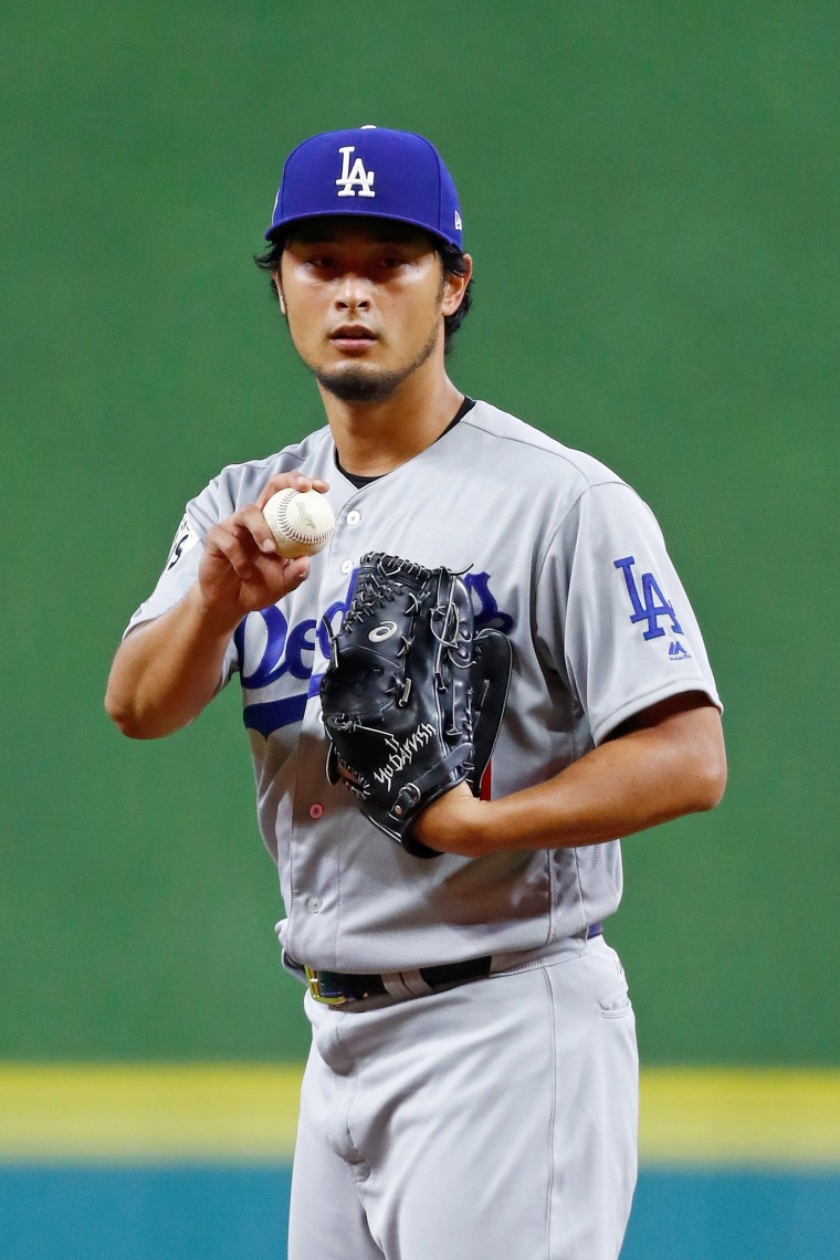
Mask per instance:
[[[326,772],[361,813],[414,857],[412,823],[467,782],[479,795],[508,697],[511,649],[500,630],[474,633],[457,573],[372,552],[321,680]]]

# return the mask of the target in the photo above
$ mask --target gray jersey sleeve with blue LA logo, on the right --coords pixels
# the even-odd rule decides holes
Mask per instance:
[[[558,529],[538,581],[536,619],[596,745],[681,692],[704,692],[722,708],[659,524],[621,481],[584,490]]]

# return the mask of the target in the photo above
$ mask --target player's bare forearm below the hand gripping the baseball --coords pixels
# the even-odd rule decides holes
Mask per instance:
[[[123,735],[154,740],[198,717],[219,689],[237,620],[203,604],[198,583],[179,605],[120,645],[105,707]]]

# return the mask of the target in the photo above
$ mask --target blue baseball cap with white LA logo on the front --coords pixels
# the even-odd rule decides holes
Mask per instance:
[[[434,145],[412,131],[373,126],[325,131],[293,149],[266,241],[324,214],[395,219],[462,248],[452,176]]]

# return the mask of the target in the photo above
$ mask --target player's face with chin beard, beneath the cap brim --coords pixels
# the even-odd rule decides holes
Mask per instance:
[[[387,219],[329,217],[286,243],[278,292],[292,341],[321,386],[380,402],[442,354],[443,315],[465,284],[443,280],[424,232]]]

